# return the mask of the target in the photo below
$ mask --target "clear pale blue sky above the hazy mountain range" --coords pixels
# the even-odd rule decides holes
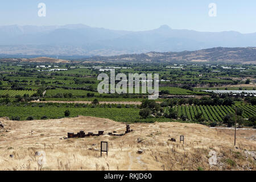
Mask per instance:
[[[46,4],[46,17],[38,4]],[[217,16],[208,15],[216,3]],[[114,30],[142,31],[167,24],[197,31],[256,32],[255,0],[1,0],[0,25],[82,23]]]

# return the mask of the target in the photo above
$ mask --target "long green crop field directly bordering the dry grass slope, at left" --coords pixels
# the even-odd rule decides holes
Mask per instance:
[[[64,118],[64,111],[69,110],[71,112],[70,117],[77,117],[77,115],[85,115],[100,118],[109,118],[118,122],[147,122],[147,119],[141,119],[139,116],[139,109],[133,108],[90,108],[90,107],[5,107],[0,106],[0,117],[19,117],[20,120],[26,120],[27,117],[34,117],[34,119],[40,119],[44,115],[49,119]],[[156,118],[154,121],[170,121],[167,118]]]

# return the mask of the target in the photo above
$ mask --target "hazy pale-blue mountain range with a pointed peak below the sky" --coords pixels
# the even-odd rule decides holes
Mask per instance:
[[[256,33],[175,30],[166,25],[137,32],[84,24],[0,26],[0,55],[112,56],[212,47],[256,47]]]

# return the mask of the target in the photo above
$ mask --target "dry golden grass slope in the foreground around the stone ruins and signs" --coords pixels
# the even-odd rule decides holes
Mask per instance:
[[[255,130],[233,132],[195,123],[133,123],[134,131],[122,137],[71,138],[68,132],[105,134],[125,132],[125,123],[82,117],[38,121],[0,118],[0,170],[254,170]],[[185,143],[179,136],[185,136]],[[253,138],[254,136],[254,138]],[[175,138],[176,142],[168,139]],[[109,142],[108,156],[100,156],[100,142]],[[142,154],[137,154],[143,150]],[[38,164],[44,151],[45,163]],[[209,166],[209,152],[216,151],[217,165]],[[10,156],[12,155],[12,156]]]

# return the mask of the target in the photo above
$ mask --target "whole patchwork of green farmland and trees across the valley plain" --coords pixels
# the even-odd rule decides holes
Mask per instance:
[[[238,69],[225,70],[226,65],[183,64],[170,63],[86,63],[48,64],[51,68],[67,69],[63,71],[49,71],[49,68],[39,68],[39,63],[30,64],[0,64],[0,116],[18,120],[56,119],[66,117],[65,110],[69,110],[68,117],[77,115],[109,118],[118,122],[197,122],[196,116],[202,113],[205,125],[210,122],[224,122],[226,114],[233,114],[232,105],[206,104],[200,101],[202,97],[211,98],[212,93],[202,92],[205,89],[237,89],[254,90],[256,68],[251,65],[235,65],[242,67],[246,72]],[[148,94],[110,94],[98,93],[97,86],[102,80],[97,80],[100,73],[110,76],[110,71],[104,69],[115,68],[115,74],[125,73],[158,73],[159,98],[158,105],[169,99],[176,99],[171,106],[177,112],[177,118],[170,118],[164,110],[169,107],[161,106],[160,110],[152,109],[149,115],[142,117],[140,105],[147,100]],[[218,72],[214,72],[218,71]],[[115,82],[117,84],[117,82]],[[110,88],[109,88],[110,90]],[[135,88],[133,88],[135,90]],[[229,96],[218,96],[224,100]],[[188,104],[189,98],[195,98],[203,104]],[[255,105],[249,98],[234,97],[236,105],[243,109],[242,117],[249,119],[255,115]],[[111,106],[89,105],[88,103],[106,102]],[[184,100],[186,103],[184,103]],[[213,100],[213,98],[212,98]],[[42,101],[49,103],[34,103]],[[51,103],[50,102],[59,102]],[[77,103],[76,103],[77,102]],[[84,105],[77,106],[82,102]],[[97,103],[96,102],[96,103]],[[116,104],[113,105],[113,102]],[[68,105],[70,103],[71,105]],[[72,104],[73,103],[73,104]],[[76,103],[76,104],[75,104]],[[124,104],[125,103],[125,104]],[[56,104],[56,105],[55,105]],[[126,106],[126,105],[130,106]],[[168,108],[168,109],[164,109]],[[168,111],[167,111],[168,113]]]

